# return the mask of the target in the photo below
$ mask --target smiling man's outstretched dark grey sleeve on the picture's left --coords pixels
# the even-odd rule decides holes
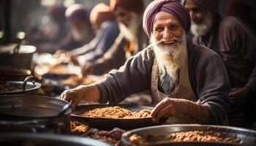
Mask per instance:
[[[152,53],[145,49],[129,58],[120,69],[109,72],[104,80],[97,82],[99,102],[109,101],[110,104],[116,104],[133,93],[149,90],[154,60],[149,59],[151,57]]]

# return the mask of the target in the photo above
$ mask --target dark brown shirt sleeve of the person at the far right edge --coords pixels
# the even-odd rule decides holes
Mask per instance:
[[[238,52],[234,57],[241,58],[245,66],[252,66],[252,73],[249,74],[249,80],[246,87],[255,91],[256,89],[256,36],[252,28],[238,18],[227,17],[220,26],[220,45],[225,50]],[[232,62],[233,65],[236,63]],[[230,64],[232,64],[230,63]],[[246,69],[249,69],[247,67]],[[244,71],[248,72],[248,70]]]

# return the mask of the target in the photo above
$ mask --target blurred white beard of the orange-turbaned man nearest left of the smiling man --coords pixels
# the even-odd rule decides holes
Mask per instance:
[[[129,41],[134,41],[138,31],[138,20],[139,16],[135,12],[131,12],[132,20],[129,22],[128,26],[125,26],[124,23],[118,23],[120,31],[124,34],[124,37]]]

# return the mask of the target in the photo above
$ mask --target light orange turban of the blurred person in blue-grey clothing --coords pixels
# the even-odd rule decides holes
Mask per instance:
[[[101,23],[106,20],[114,19],[114,13],[111,11],[110,7],[104,3],[99,3],[91,9],[90,20],[91,23],[96,23],[101,25]]]

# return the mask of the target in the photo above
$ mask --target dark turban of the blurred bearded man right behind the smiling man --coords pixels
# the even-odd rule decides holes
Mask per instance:
[[[219,13],[219,0],[192,0],[196,4],[198,4],[200,7],[203,7],[204,9],[213,12],[213,13]],[[181,3],[184,5],[186,0],[182,0]]]

